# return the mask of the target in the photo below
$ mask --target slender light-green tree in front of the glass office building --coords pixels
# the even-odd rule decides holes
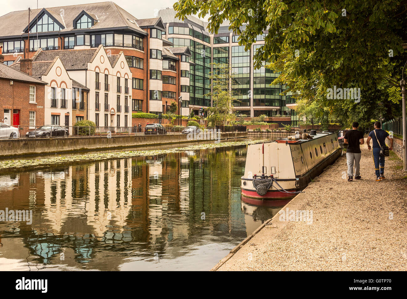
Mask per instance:
[[[231,114],[233,102],[236,99],[233,97],[236,93],[231,89],[233,74],[230,73],[228,65],[221,63],[211,63],[213,71],[210,72],[212,80],[212,92],[205,96],[212,98],[212,107],[208,107],[208,120],[211,125],[224,125],[227,120],[234,120],[236,116]]]

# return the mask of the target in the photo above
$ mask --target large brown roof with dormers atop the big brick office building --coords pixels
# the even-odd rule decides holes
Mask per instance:
[[[61,33],[84,31],[86,29],[74,29],[73,20],[84,10],[89,14],[95,15],[98,22],[95,22],[94,26],[89,28],[101,29],[101,28],[129,28],[132,31],[147,35],[135,22],[136,17],[119,7],[114,2],[99,2],[90,4],[79,4],[59,7],[46,8],[58,22],[65,25]],[[42,8],[31,9],[30,19],[36,18],[37,14],[42,11]],[[63,11],[63,16],[60,12]],[[16,20],[24,20],[24,22],[16,22]],[[12,11],[0,17],[0,36],[20,36],[23,34],[24,28],[27,26],[28,9],[24,11]],[[13,24],[13,26],[10,26]]]

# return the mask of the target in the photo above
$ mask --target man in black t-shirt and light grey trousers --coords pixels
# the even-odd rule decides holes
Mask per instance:
[[[353,181],[353,164],[355,166],[355,179],[361,179],[359,172],[359,163],[362,152],[360,145],[365,143],[363,139],[363,133],[358,131],[359,123],[354,122],[352,124],[352,130],[345,133],[344,144],[348,144],[346,150],[346,163],[348,164],[348,181]]]

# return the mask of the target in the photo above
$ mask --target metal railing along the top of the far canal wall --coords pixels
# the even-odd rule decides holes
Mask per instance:
[[[152,129],[154,127],[147,127]],[[147,134],[180,134],[185,127],[155,127],[155,131],[146,131],[146,127],[79,127],[79,126],[0,126],[0,138],[39,138],[68,136],[118,136]],[[214,128],[199,128],[205,132]],[[184,133],[191,133],[185,131]],[[199,133],[199,132],[197,132]]]

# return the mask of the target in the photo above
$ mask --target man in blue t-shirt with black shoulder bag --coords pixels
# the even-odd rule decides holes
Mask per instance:
[[[366,144],[368,144],[368,149],[370,150],[372,147],[370,146],[370,139],[373,143],[373,161],[374,161],[374,171],[376,172],[376,181],[381,181],[385,179],[384,177],[384,156],[380,155],[380,147],[386,145],[386,138],[390,140],[389,150],[393,149],[393,138],[389,137],[389,133],[381,129],[380,122],[374,123],[374,130],[369,133],[368,140],[366,140]]]

